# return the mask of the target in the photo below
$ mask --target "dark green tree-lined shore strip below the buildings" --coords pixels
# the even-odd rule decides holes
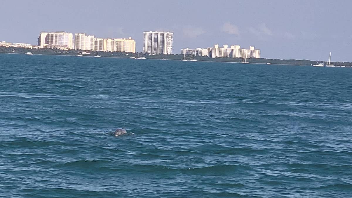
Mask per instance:
[[[26,49],[26,48],[17,48],[17,47],[0,47],[1,53],[10,53],[10,54],[24,54],[25,52],[31,52],[32,54],[42,54],[42,55],[68,55],[68,56],[95,56],[96,51],[85,51],[85,50],[59,50],[59,49]],[[146,57],[147,59],[166,59],[166,60],[181,60],[183,59],[183,54],[175,55],[149,55],[143,54],[142,52],[105,52],[99,51],[99,56],[101,57],[115,57],[115,58],[130,58],[130,57]],[[186,55],[185,59],[189,60],[191,55]],[[230,62],[230,63],[241,63],[242,58],[210,58],[208,56],[194,56],[194,59],[197,61],[209,61],[209,62]],[[269,58],[249,58],[246,60],[249,63],[260,63],[260,64],[288,64],[288,65],[314,65],[316,61],[312,60],[294,60],[294,59],[269,59]],[[325,61],[325,63],[327,63]],[[351,62],[331,62],[335,66],[345,66],[352,67]]]

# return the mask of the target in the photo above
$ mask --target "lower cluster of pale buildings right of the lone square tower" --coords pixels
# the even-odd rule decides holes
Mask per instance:
[[[182,49],[181,54],[193,54],[195,56],[208,56],[212,58],[230,57],[230,58],[260,58],[260,50],[255,50],[253,46],[249,49],[241,49],[239,45],[224,45],[219,48],[219,44],[215,44],[212,48],[202,49]]]

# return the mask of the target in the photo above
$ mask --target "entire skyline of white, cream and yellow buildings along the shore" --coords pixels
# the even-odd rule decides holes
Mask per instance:
[[[172,54],[173,32],[149,31],[143,32],[143,53],[149,54]],[[74,37],[75,36],[75,37]],[[7,43],[0,42],[0,46],[23,47],[23,48],[51,48],[51,49],[76,49],[91,51],[126,51],[136,52],[136,42],[127,38],[96,38],[94,35],[86,33],[69,32],[40,32],[38,45],[28,43]],[[260,58],[260,50],[250,46],[249,49],[241,49],[239,45],[224,45],[219,48],[219,44],[209,48],[185,48],[181,54],[193,54],[196,56],[232,57],[232,58]]]

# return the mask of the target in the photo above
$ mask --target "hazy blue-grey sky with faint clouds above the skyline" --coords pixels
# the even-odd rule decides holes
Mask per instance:
[[[174,32],[174,54],[250,45],[263,58],[352,61],[351,0],[1,0],[0,41],[36,44],[41,31],[136,40]]]

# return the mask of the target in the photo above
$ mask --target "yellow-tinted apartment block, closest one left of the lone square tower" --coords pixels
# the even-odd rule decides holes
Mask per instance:
[[[126,38],[106,38],[104,39],[103,51],[126,51],[136,52],[136,41],[131,37]]]

